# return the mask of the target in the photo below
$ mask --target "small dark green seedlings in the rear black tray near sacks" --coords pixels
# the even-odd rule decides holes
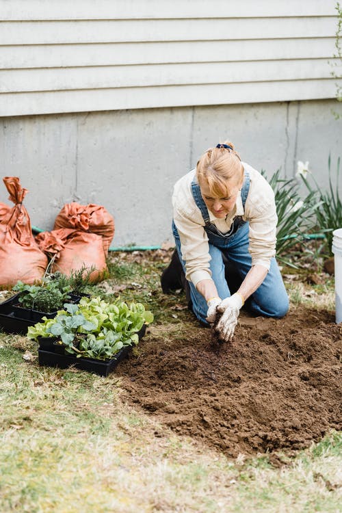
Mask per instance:
[[[23,308],[32,308],[40,312],[56,311],[70,300],[70,287],[61,288],[52,280],[44,280],[42,285],[27,285],[18,281],[13,290],[20,293],[18,301]]]

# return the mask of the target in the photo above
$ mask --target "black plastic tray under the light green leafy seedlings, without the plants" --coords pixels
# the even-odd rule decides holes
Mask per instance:
[[[129,352],[129,346],[122,347],[115,358],[111,360],[92,360],[91,358],[76,358],[76,356],[70,354],[58,354],[51,351],[38,350],[38,360],[40,365],[47,365],[48,367],[59,367],[60,369],[66,369],[73,365],[77,369],[83,371],[93,372],[99,374],[99,376],[108,376],[109,373],[113,372],[118,363],[127,356]]]

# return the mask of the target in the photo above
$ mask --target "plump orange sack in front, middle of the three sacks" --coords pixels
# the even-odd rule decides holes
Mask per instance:
[[[40,249],[53,258],[51,272],[59,271],[66,276],[82,267],[95,267],[90,280],[97,282],[107,271],[103,239],[96,233],[86,233],[75,228],[60,228],[37,235]]]

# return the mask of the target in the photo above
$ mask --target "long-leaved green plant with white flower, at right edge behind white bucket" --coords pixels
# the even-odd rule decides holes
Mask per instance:
[[[339,192],[340,157],[337,159],[336,185],[332,183],[331,159],[328,158],[329,187],[322,191],[313,174],[300,176],[308,190],[310,209],[315,213],[317,229],[326,238],[326,251],[332,254],[332,232],[342,226],[342,201]],[[308,178],[309,176],[309,178]],[[311,183],[312,182],[312,183]]]

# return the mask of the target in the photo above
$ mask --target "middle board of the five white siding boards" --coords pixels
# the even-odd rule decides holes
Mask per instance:
[[[330,58],[335,38],[49,44],[0,47],[2,69]]]

